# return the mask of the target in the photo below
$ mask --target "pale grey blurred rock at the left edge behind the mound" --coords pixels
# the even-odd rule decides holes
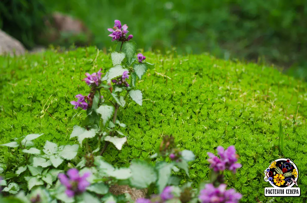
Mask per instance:
[[[24,54],[25,47],[17,39],[14,39],[4,31],[0,30],[0,55],[2,54]]]

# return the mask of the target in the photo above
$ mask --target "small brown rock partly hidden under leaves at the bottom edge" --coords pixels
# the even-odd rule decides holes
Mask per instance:
[[[137,200],[138,198],[145,198],[147,189],[138,190],[135,188],[130,188],[128,185],[113,185],[110,187],[110,192],[114,195],[120,195],[124,193],[129,193],[132,200]]]

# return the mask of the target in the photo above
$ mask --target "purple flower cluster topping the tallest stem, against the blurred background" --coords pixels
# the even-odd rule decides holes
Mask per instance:
[[[127,29],[128,29],[128,26],[126,24],[122,26],[119,20],[114,20],[114,27],[108,28],[108,31],[112,32],[112,34],[108,36],[112,37],[112,42],[114,40],[117,40],[119,42],[129,41],[130,39],[133,38],[133,35],[129,35],[126,38],[126,34],[128,33]]]

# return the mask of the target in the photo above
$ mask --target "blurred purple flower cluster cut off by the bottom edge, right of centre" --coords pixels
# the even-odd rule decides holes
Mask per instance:
[[[202,203],[237,203],[242,195],[233,188],[226,190],[226,187],[226,184],[220,184],[217,188],[211,183],[206,184],[198,198]]]

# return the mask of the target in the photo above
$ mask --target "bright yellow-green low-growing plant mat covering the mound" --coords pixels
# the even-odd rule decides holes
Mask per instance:
[[[264,202],[271,199],[264,197],[264,188],[269,184],[263,180],[263,171],[280,157],[290,158],[297,165],[302,195],[275,200],[305,201],[306,83],[274,68],[208,55],[144,55],[157,64],[156,69],[137,84],[144,93],[143,106],[130,101],[119,111],[119,120],[128,126],[125,133],[129,146],[121,152],[110,147],[104,154],[110,162],[127,165],[133,158],[146,158],[154,153],[162,134],[172,134],[182,148],[196,154],[190,174],[193,181],[199,182],[208,179],[206,153],[219,145],[235,145],[243,168],[236,179],[228,174],[227,180],[243,194],[242,202],[256,202],[256,197]],[[69,140],[69,135],[85,111],[78,113],[69,101],[76,94],[87,94],[89,88],[81,81],[85,72],[99,68],[106,72],[109,67],[109,56],[97,56],[94,47],[0,57],[0,143],[29,133],[45,133],[36,140],[38,148],[46,140],[60,145],[77,143]],[[284,155],[276,147],[280,121],[285,132]],[[0,157],[12,172],[22,161],[17,151],[7,147],[0,148]]]

